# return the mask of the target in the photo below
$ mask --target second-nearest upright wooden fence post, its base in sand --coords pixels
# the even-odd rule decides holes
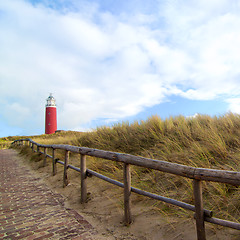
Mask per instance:
[[[131,173],[130,173],[130,165],[124,163],[123,167],[123,178],[124,178],[124,218],[125,224],[129,225],[132,222],[131,216]]]

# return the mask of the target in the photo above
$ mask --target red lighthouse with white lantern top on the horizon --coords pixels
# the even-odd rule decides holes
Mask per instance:
[[[45,134],[55,133],[57,130],[56,100],[50,93],[46,104]]]

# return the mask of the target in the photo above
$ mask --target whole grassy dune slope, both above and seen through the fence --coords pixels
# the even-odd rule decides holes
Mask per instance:
[[[33,137],[34,141],[63,143],[164,159],[194,167],[240,171],[240,116],[211,118],[178,116],[161,120],[101,127],[89,133],[63,132]],[[122,166],[91,158],[88,167],[122,180]],[[193,204],[192,181],[144,168],[132,168],[133,185],[150,192]],[[240,221],[240,190],[231,185],[204,182],[204,207],[216,217]],[[159,211],[188,215],[188,212],[154,202]]]

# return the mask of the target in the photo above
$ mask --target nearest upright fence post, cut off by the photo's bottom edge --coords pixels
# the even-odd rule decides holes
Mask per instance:
[[[202,182],[200,180],[193,180],[193,192],[195,202],[195,217],[197,228],[197,239],[206,240],[204,212],[203,212],[203,199],[202,199]]]

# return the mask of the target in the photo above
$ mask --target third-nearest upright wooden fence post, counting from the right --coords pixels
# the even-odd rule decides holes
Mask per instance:
[[[86,155],[80,155],[80,170],[81,170],[81,203],[87,201],[87,167]]]

